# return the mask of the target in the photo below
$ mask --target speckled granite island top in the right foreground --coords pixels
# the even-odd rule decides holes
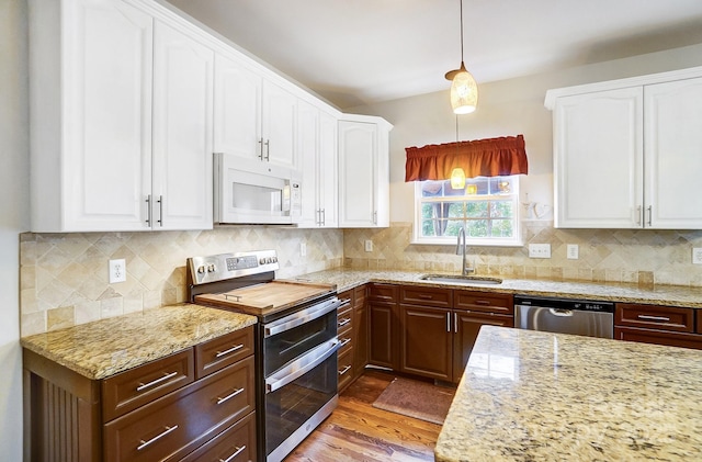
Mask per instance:
[[[484,326],[434,457],[702,460],[702,351]]]

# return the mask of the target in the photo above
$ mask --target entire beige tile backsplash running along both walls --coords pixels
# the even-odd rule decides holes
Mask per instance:
[[[691,263],[702,232],[554,229],[525,222],[524,243],[548,243],[551,259],[531,259],[528,247],[469,247],[482,274],[642,285],[702,285]],[[363,269],[460,271],[454,246],[411,245],[411,224],[383,229],[296,229],[233,226],[206,232],[33,234],[20,236],[22,336],[139,312],[185,300],[185,259],[234,250],[278,250],[278,278],[341,266]],[[364,243],[373,240],[373,251]],[[301,257],[305,243],[307,255]],[[566,259],[566,245],[579,259]],[[107,261],[124,258],[127,281],[107,282]]]

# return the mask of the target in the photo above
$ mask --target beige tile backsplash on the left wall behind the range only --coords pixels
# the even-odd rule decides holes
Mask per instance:
[[[185,301],[185,259],[275,249],[278,278],[342,264],[343,232],[230,226],[203,232],[20,235],[21,335],[55,330]],[[301,244],[306,256],[301,256]],[[110,284],[109,260],[126,260]]]

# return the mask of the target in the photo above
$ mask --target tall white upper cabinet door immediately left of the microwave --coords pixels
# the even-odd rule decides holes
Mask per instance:
[[[212,228],[214,52],[157,22],[154,55],[152,227]]]

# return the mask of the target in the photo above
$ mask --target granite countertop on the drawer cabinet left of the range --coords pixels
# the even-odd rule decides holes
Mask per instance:
[[[20,342],[88,379],[99,380],[256,323],[254,316],[182,304],[37,334]]]

